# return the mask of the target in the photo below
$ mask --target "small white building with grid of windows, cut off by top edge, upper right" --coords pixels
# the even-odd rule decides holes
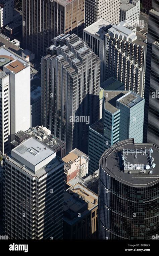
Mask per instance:
[[[140,0],[120,0],[120,21],[129,26],[139,25]]]

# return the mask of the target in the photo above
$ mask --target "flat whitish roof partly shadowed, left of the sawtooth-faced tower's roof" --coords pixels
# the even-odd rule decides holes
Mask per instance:
[[[85,28],[84,32],[86,31],[90,34],[94,34],[95,36],[98,37],[98,39],[103,40],[104,35],[107,33],[108,29],[112,27],[112,25],[113,24],[108,22],[106,19],[101,18],[97,20],[97,22]]]

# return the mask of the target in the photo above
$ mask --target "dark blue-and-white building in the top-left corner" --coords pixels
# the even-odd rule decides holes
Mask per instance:
[[[13,21],[14,0],[0,1],[0,27]]]

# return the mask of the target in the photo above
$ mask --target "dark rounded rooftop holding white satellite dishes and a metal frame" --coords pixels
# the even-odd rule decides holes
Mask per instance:
[[[130,186],[159,182],[159,149],[152,144],[135,144],[134,139],[118,142],[103,153],[100,165],[110,176]]]

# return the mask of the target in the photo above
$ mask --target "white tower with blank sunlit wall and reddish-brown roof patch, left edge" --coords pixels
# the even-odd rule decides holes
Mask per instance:
[[[4,154],[14,134],[30,128],[30,62],[1,47],[0,68],[0,151]]]

